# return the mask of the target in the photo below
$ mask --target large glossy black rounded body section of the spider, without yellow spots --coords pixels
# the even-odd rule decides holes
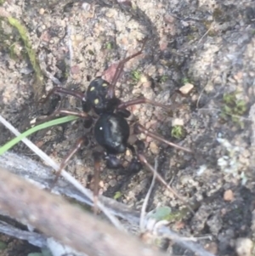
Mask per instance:
[[[129,137],[127,120],[117,114],[103,114],[94,126],[94,136],[99,145],[109,154],[120,154],[126,151]]]

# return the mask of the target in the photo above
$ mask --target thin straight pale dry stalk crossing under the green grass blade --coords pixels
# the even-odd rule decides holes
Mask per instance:
[[[14,133],[16,136],[20,135],[20,132],[14,128],[8,121],[6,121],[1,115],[0,115],[0,122],[3,123],[3,125],[8,128],[12,133]],[[40,156],[43,161],[47,162],[54,170],[59,170],[59,165],[56,164],[49,156],[47,156],[43,151],[41,151],[37,145],[34,145],[31,143],[29,139],[22,139],[22,141],[31,149],[31,151],[34,151],[37,156]],[[88,193],[88,190],[85,190],[85,188],[77,181],[77,179],[73,178],[71,174],[68,174],[65,172],[65,170],[62,170],[61,176],[64,177],[66,180],[68,180],[72,185],[74,185],[77,190],[81,191],[85,196],[87,196],[92,202],[93,202],[93,196],[92,193]],[[105,206],[98,202],[99,209],[105,213],[107,218],[109,218],[118,229],[122,229],[122,225],[119,222],[118,219],[116,219]]]

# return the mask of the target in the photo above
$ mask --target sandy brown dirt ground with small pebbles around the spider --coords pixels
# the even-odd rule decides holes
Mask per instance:
[[[0,16],[5,16],[4,10],[26,26],[43,77],[35,82],[20,33],[0,18],[0,108],[8,122],[24,131],[31,120],[54,111],[58,97],[45,105],[38,101],[58,82],[85,92],[94,77],[139,51],[147,37],[143,54],[125,66],[116,95],[125,101],[144,95],[169,105],[169,111],[151,105],[129,110],[146,128],[194,151],[192,155],[142,137],[151,164],[159,156],[162,177],[197,205],[195,215],[171,223],[171,228],[184,236],[212,236],[199,242],[218,255],[235,255],[238,238],[253,241],[254,1],[140,0],[131,5],[110,0],[8,0],[1,5]],[[186,83],[193,90],[176,94]],[[81,102],[72,97],[64,97],[62,104],[81,110]],[[180,139],[173,136],[177,122],[184,128]],[[94,140],[90,131],[86,133]],[[43,130],[31,140],[60,162],[82,134],[82,121],[78,121]],[[1,127],[0,145],[11,138]],[[79,151],[67,168],[86,186],[93,177],[93,149]],[[37,159],[25,145],[15,146],[14,151]],[[120,202],[139,209],[150,182],[145,168],[124,175],[105,169],[100,185],[105,196],[120,192]],[[159,204],[173,212],[184,207],[156,183],[148,210]],[[180,247],[171,250],[174,255],[191,255]]]

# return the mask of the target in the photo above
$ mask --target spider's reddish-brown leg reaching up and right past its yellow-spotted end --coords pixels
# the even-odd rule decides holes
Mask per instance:
[[[131,56],[128,56],[126,59],[120,61],[119,64],[117,65],[116,72],[115,72],[115,74],[114,74],[114,76],[112,78],[112,81],[111,81],[111,85],[108,88],[107,96],[108,96],[109,99],[113,99],[115,97],[116,82],[118,81],[118,79],[119,79],[119,77],[120,77],[120,75],[122,73],[124,65],[127,63],[127,61],[132,60],[136,56],[139,56],[140,54],[143,53],[146,41],[147,41],[147,38],[144,39],[144,43],[142,45],[142,48],[139,50],[139,52],[137,52],[136,54],[133,54]]]

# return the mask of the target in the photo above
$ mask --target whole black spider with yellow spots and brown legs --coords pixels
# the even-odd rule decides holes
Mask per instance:
[[[132,152],[133,158],[131,162],[129,162],[127,168],[125,168],[125,171],[139,172],[144,164],[144,166],[149,168],[150,171],[156,172],[156,170],[150,165],[149,162],[147,162],[144,156],[144,142],[137,139],[134,145],[130,145],[128,143],[130,127],[127,122],[127,117],[131,115],[131,112],[127,111],[127,107],[137,104],[150,104],[169,110],[169,106],[162,105],[156,101],[148,100],[145,98],[123,102],[115,95],[116,82],[120,77],[125,63],[127,63],[128,60],[135,58],[139,54],[142,54],[145,42],[146,40],[144,40],[142,48],[139,50],[139,52],[119,62],[111,83],[105,81],[102,77],[96,77],[88,85],[86,94],[63,87],[54,87],[48,93],[46,98],[41,100],[41,103],[44,103],[52,94],[71,95],[81,100],[82,112],[69,111],[58,108],[56,111],[54,111],[51,117],[59,114],[82,117],[84,120],[85,128],[91,128],[94,122],[92,116],[89,114],[89,111],[93,110],[99,117],[94,123],[94,138],[96,139],[97,143],[105,150],[105,153],[94,151],[92,154],[94,157],[94,195],[97,195],[99,191],[100,161],[104,159],[106,161],[107,168],[123,168],[122,161],[117,158],[117,155],[124,153],[127,148]],[[167,139],[163,139],[161,136],[150,132],[148,129],[139,124],[139,122],[134,124],[133,132],[134,134],[144,133],[146,136],[150,136],[151,138],[166,143],[167,145],[175,146],[179,150],[191,152],[189,149],[175,145]],[[88,143],[89,141],[86,135],[83,135],[80,139],[77,140],[76,145],[71,149],[71,151],[69,151],[67,156],[65,156],[61,162],[54,183],[57,181],[61,170],[65,168],[71,157],[81,148],[82,145],[88,145]],[[156,174],[156,177],[157,179],[160,179],[164,185],[167,185],[167,183],[164,181],[164,179],[161,178],[159,174]]]

